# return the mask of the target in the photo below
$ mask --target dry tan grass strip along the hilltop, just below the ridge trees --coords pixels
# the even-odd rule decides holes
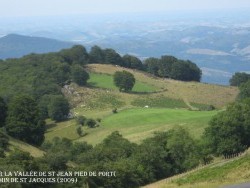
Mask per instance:
[[[91,72],[111,75],[114,74],[115,71],[129,71],[134,74],[136,80],[159,88],[159,92],[150,93],[147,96],[165,96],[168,98],[188,101],[189,103],[214,105],[215,107],[221,108],[226,104],[233,102],[238,93],[238,89],[236,87],[162,79],[152,77],[152,75],[146,74],[144,72],[113,65],[92,64],[88,65],[87,67]],[[139,97],[141,98],[143,95]]]

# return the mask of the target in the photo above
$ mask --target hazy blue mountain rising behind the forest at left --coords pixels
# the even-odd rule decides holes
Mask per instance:
[[[9,34],[0,38],[0,59],[18,58],[30,53],[47,53],[70,48],[73,43],[45,37]]]

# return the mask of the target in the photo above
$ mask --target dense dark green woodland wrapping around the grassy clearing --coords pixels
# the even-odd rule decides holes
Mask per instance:
[[[112,49],[98,46],[89,53],[83,46],[74,46],[58,53],[30,54],[1,61],[0,171],[116,171],[116,177],[80,178],[73,187],[139,187],[209,163],[214,156],[238,153],[250,146],[250,81],[239,84],[237,101],[212,119],[199,140],[193,139],[186,129],[176,127],[155,133],[141,144],[131,143],[118,132],[94,147],[65,138],[44,142],[45,119],[62,121],[70,111],[61,88],[70,82],[86,85],[89,75],[84,65],[88,63],[114,64],[184,81],[201,78],[200,69],[190,61],[162,56],[142,63],[135,56],[121,57]],[[8,135],[39,146],[46,151],[45,156],[33,158],[29,153],[10,151]],[[72,185],[65,184],[65,187]]]

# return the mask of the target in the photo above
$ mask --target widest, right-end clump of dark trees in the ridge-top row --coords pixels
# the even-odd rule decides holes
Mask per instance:
[[[164,78],[182,81],[200,81],[201,70],[191,61],[179,60],[173,56],[162,56],[161,59],[145,60],[147,72]]]

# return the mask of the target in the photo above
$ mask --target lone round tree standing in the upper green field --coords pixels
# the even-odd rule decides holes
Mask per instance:
[[[130,72],[117,71],[114,74],[114,83],[120,91],[131,91],[135,84],[135,77]]]

